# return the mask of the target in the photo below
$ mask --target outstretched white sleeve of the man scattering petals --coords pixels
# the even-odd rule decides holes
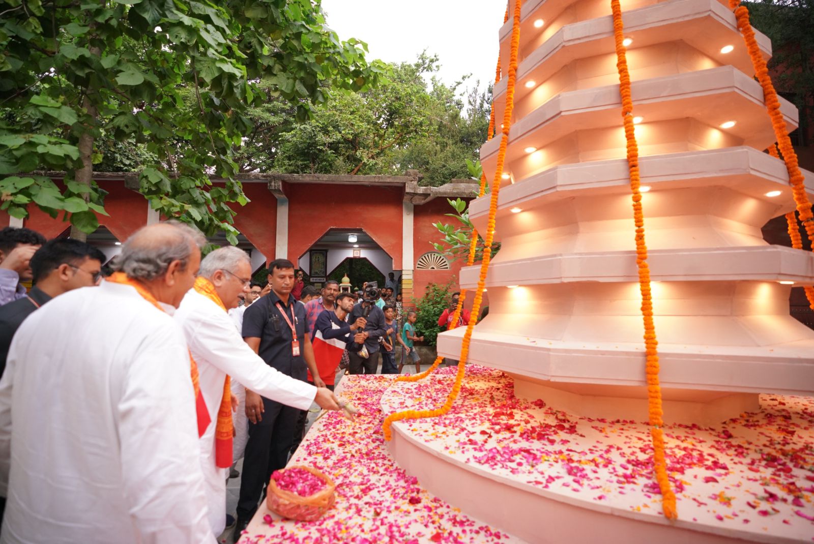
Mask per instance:
[[[269,400],[300,410],[311,407],[317,396],[317,388],[266,364],[243,342],[243,337],[234,329],[225,312],[222,316],[203,316],[195,321],[195,330],[186,335],[195,360],[200,356],[239,381],[243,387]]]

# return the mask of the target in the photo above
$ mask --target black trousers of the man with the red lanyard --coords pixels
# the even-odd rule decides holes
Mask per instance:
[[[285,404],[263,399],[265,412],[257,424],[249,421],[249,438],[243,454],[238,519],[251,520],[260,503],[260,494],[271,473],[284,468],[297,432],[300,411]]]

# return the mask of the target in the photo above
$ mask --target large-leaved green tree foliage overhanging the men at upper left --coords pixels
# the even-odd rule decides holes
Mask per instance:
[[[234,243],[248,109],[274,96],[308,120],[332,89],[365,91],[385,69],[324,24],[318,0],[0,1],[0,209],[24,217],[34,202],[93,232],[93,164],[124,142],[152,207]],[[57,186],[38,170],[68,175]]]

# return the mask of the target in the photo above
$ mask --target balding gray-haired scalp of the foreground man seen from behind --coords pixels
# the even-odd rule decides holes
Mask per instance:
[[[167,273],[169,264],[180,261],[186,270],[193,250],[206,244],[199,230],[176,220],[139,228],[121,246],[116,270],[143,281],[153,281]]]

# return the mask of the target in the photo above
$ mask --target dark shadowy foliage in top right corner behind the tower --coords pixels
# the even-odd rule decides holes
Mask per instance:
[[[814,0],[748,2],[752,26],[772,40],[775,87],[800,110],[801,128],[814,120]]]

